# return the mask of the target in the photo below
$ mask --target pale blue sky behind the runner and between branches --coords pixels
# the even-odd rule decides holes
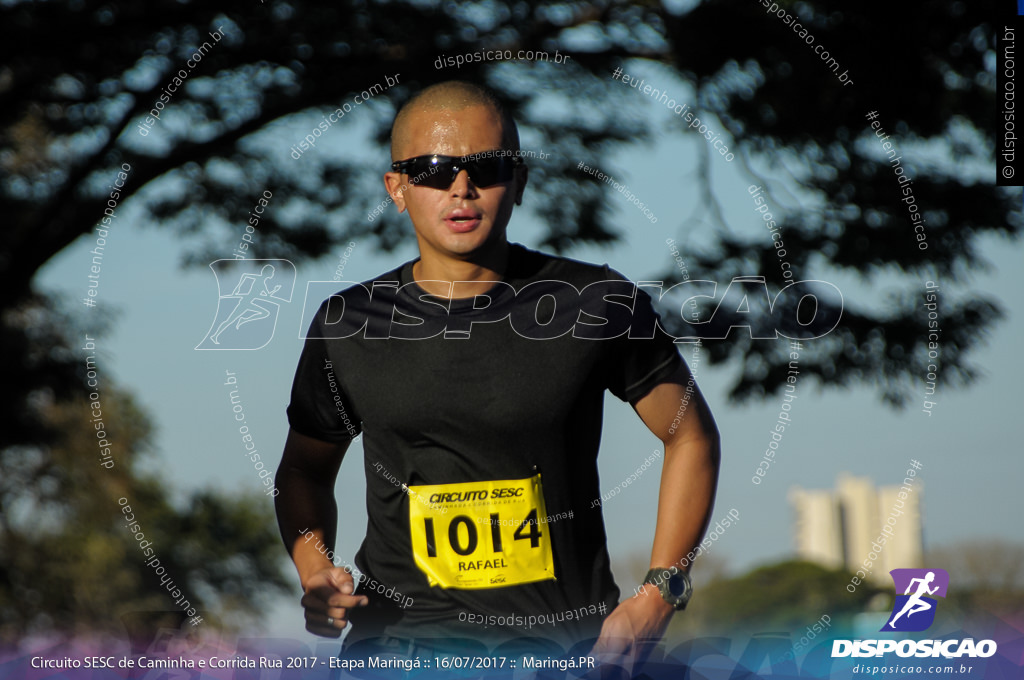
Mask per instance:
[[[686,92],[681,83],[668,86]],[[693,224],[688,230],[682,226],[698,201],[694,172],[697,157],[703,152],[703,139],[680,134],[676,131],[678,124],[670,127],[673,121],[660,104],[646,101],[642,105],[665,126],[664,136],[656,146],[636,146],[613,155],[609,162],[613,166],[600,169],[625,182],[658,220],[652,224],[625,198],[612,194],[623,241],[612,249],[587,248],[569,254],[608,262],[634,280],[651,279],[673,266],[667,239],[677,242],[685,258],[687,248],[705,243],[715,228],[701,225],[699,220],[688,222]],[[280,138],[301,136],[299,131],[308,128],[302,120],[296,120],[294,126],[295,134]],[[303,163],[306,156],[350,148],[367,138],[358,122],[336,126],[330,135],[330,139],[325,135],[326,141],[303,159],[286,162]],[[524,141],[529,147],[528,137]],[[912,161],[913,148],[906,146],[902,151],[904,158]],[[690,165],[680,164],[679,159],[689,159]],[[381,161],[375,172],[383,172],[385,162]],[[768,239],[746,192],[751,179],[738,162],[727,163],[717,154],[709,162],[730,228]],[[767,166],[759,169],[767,172]],[[772,177],[779,188],[787,184],[784,177]],[[155,184],[150,190],[161,188]],[[510,240],[535,246],[542,231],[530,212],[539,206],[528,194],[527,188],[526,205],[513,216],[509,232]],[[779,196],[786,194],[782,190]],[[898,200],[895,182],[893,196],[894,201]],[[380,198],[385,198],[383,188]],[[778,212],[807,207],[796,198],[778,203]],[[279,207],[280,203],[271,201],[268,210]],[[215,238],[222,235],[223,257],[231,256],[246,217],[240,214],[231,224],[213,231]],[[400,252],[387,256],[375,253],[369,242],[356,242],[344,279],[362,281],[415,257],[411,226],[409,233],[409,243]],[[909,224],[907,238],[912,238]],[[258,257],[258,232],[255,242]],[[37,285],[80,300],[85,295],[90,264],[87,253],[93,246],[93,236],[79,239],[45,266]],[[243,455],[228,389],[239,390],[258,451],[275,465],[287,433],[285,407],[304,331],[300,316],[306,282],[331,280],[345,248],[345,243],[339,244],[330,257],[298,266],[296,298],[283,307],[273,340],[266,347],[257,351],[197,351],[194,348],[203,340],[216,311],[217,288],[212,271],[181,269],[178,263],[182,242],[169,230],[147,226],[138,202],[128,201],[119,209],[108,239],[97,296],[101,306],[119,311],[113,332],[99,346],[100,379],[114,379],[133,391],[150,413],[157,426],[158,457],[154,467],[177,498],[205,485],[262,490],[252,463]],[[921,409],[923,385],[914,388],[922,396],[898,411],[883,403],[866,387],[822,390],[812,379],[801,380],[792,411],[793,425],[785,431],[776,461],[759,486],[751,482],[751,477],[767,447],[781,397],[743,407],[730,405],[725,394],[734,368],[713,369],[700,364],[698,381],[723,435],[722,475],[714,517],[724,516],[731,508],[739,512],[738,523],[714,548],[731,570],[792,554],[793,512],[786,495],[794,485],[830,488],[841,472],[868,476],[878,484],[894,484],[902,479],[911,458],[924,466],[921,478],[926,548],[981,537],[1019,540],[1019,520],[1024,515],[1019,483],[1024,478],[1024,460],[1019,456],[1019,416],[1013,412],[1017,410],[1015,397],[1021,378],[1017,338],[1024,335],[1021,251],[1019,243],[987,239],[981,252],[991,262],[989,271],[959,286],[940,282],[946,295],[985,293],[998,299],[1006,309],[1008,318],[974,355],[981,380],[969,388],[940,388],[933,397],[938,406],[932,416]],[[882,300],[885,288],[897,281],[881,275],[862,282],[827,271],[801,271],[797,278],[831,282],[847,298],[860,300]],[[911,290],[923,291],[924,279],[911,285]],[[689,346],[683,348],[684,356],[689,358]],[[231,388],[223,384],[226,371],[238,380]],[[602,490],[618,484],[655,450],[660,451],[660,442],[627,405],[609,394],[600,459]],[[356,444],[349,451],[338,482],[338,553],[346,560],[357,548],[366,524],[360,458],[361,448]],[[650,550],[659,469],[660,465],[655,464],[606,505],[610,551],[624,589],[631,587],[637,577],[627,569],[627,560],[633,555],[646,560]],[[284,550],[282,555],[284,558]],[[297,600],[294,606],[284,603],[279,613],[281,617],[274,615],[274,630],[295,635],[301,629]]]

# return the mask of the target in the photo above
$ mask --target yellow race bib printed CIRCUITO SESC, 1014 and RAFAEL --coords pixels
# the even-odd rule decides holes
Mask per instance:
[[[555,578],[541,475],[410,486],[416,565],[431,586],[501,588]]]

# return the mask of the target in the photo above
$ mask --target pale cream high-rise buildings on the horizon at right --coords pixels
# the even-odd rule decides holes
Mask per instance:
[[[868,580],[881,586],[892,585],[889,570],[924,566],[924,536],[921,521],[919,481],[910,493],[899,499],[900,486],[877,488],[867,477],[841,474],[836,491],[808,491],[795,486],[790,503],[796,512],[797,556],[822,566],[861,568],[870,553],[876,553]],[[890,523],[892,536],[882,533],[893,508],[902,512]],[[876,551],[879,537],[886,539]]]

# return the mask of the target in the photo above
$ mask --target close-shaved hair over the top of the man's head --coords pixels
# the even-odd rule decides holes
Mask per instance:
[[[519,131],[512,116],[493,91],[474,83],[449,80],[431,85],[413,96],[398,110],[391,125],[391,160],[409,158],[414,146],[417,126],[413,119],[423,120],[441,112],[457,113],[465,109],[485,107],[495,113],[496,124],[502,129],[502,148],[519,151]]]

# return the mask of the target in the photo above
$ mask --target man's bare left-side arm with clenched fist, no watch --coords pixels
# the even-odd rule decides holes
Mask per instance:
[[[334,484],[347,450],[347,442],[329,443],[289,430],[274,480],[281,491],[274,499],[278,526],[299,572],[306,630],[325,637],[341,635],[347,610],[367,603],[366,597],[352,595],[351,575],[317,549],[319,544],[334,550],[338,526]],[[306,538],[310,534],[312,538]]]

